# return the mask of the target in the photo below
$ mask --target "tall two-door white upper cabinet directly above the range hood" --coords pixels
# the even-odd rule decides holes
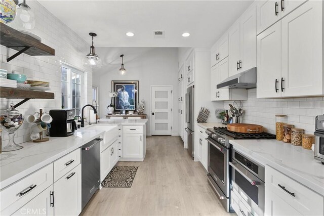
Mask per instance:
[[[256,66],[256,8],[249,8],[229,29],[229,76]]]

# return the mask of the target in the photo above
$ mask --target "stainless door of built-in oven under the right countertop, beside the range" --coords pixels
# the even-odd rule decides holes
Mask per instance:
[[[234,160],[229,165],[232,167],[232,190],[237,192],[246,206],[251,207],[254,215],[264,215],[264,182]]]

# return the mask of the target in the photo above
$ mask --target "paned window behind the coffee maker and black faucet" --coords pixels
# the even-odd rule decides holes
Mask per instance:
[[[83,72],[62,66],[62,108],[74,109],[80,115],[83,90]]]

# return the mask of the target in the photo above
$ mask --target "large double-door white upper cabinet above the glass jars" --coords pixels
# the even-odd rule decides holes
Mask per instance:
[[[308,1],[257,36],[258,98],[323,94],[322,4]]]

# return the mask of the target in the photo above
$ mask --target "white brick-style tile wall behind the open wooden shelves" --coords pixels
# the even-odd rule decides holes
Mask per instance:
[[[89,41],[82,39],[37,1],[28,1],[28,5],[31,7],[31,10],[33,10],[36,19],[36,26],[35,29],[33,29],[33,32],[42,37],[43,44],[55,49],[55,56],[33,57],[22,54],[7,63],[7,57],[13,55],[16,51],[1,46],[0,68],[6,69],[8,72],[15,70],[18,73],[26,74],[28,79],[49,81],[52,89],[51,92],[55,93],[55,99],[31,99],[17,107],[17,110],[24,115],[28,115],[33,114],[40,108],[43,108],[45,112],[48,112],[50,109],[61,108],[61,62],[68,63],[69,65],[85,72],[84,83],[86,90],[83,95],[84,103],[91,103],[92,70],[84,68],[82,65],[82,58],[89,53],[91,42],[90,37]],[[1,112],[8,109],[10,101],[11,100],[9,99],[0,99]],[[21,100],[13,101],[16,104]],[[24,122],[18,129],[15,138],[17,144],[30,140],[29,136],[31,126],[31,124]],[[3,145],[7,145],[7,133],[4,133],[2,138]]]

